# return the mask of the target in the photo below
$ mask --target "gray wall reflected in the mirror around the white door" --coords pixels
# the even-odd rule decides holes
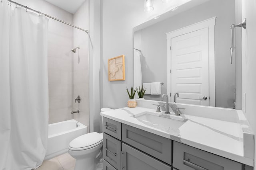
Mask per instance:
[[[141,32],[142,82],[164,82],[161,90],[162,94],[166,94],[166,33],[215,16],[217,17],[215,25],[216,106],[233,108],[236,63],[230,64],[229,49],[230,25],[235,23],[234,0],[210,0],[167,20],[136,31]],[[138,33],[134,35],[136,34]],[[138,43],[135,42],[134,45],[136,44]],[[160,95],[144,96],[149,100],[160,100],[160,97]]]

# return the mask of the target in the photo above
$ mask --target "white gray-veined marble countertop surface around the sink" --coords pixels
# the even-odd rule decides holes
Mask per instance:
[[[179,122],[174,127],[166,127],[145,121],[140,118],[145,112]],[[244,156],[243,128],[240,123],[186,114],[166,115],[144,107],[123,107],[101,112],[100,115],[249,166],[254,164],[253,159]]]

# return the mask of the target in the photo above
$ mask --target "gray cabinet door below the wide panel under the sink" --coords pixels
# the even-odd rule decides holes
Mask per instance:
[[[164,162],[122,143],[123,170],[171,170]]]

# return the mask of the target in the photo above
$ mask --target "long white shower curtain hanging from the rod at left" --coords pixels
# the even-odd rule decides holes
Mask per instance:
[[[48,20],[0,2],[0,170],[31,170],[48,139]]]

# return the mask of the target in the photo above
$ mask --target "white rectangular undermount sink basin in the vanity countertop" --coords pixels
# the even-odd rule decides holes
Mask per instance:
[[[186,121],[174,115],[160,115],[158,113],[143,112],[135,116],[140,122],[164,131],[178,130]]]

